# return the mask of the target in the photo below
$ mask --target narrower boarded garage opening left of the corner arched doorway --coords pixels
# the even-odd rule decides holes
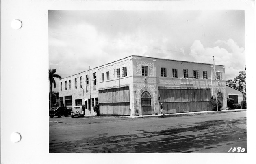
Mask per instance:
[[[129,87],[99,90],[100,115],[130,116]]]

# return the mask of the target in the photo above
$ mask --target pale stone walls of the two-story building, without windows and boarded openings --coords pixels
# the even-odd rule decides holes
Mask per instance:
[[[142,76],[142,66],[147,66],[147,75]],[[122,69],[126,67],[127,76],[122,76]],[[165,69],[165,76],[161,76],[161,68]],[[117,69],[120,70],[120,78],[115,77]],[[173,69],[177,69],[177,78],[173,77]],[[183,70],[188,70],[188,78],[184,78]],[[216,72],[221,74],[220,80],[216,80],[217,93],[223,95],[223,108],[226,104],[226,81],[225,69],[222,65],[215,65]],[[194,71],[198,71],[198,78],[193,78]],[[203,78],[203,71],[207,71],[207,79]],[[107,79],[109,72],[109,80]],[[93,73],[96,73],[96,85],[94,85]],[[104,80],[102,79],[104,74]],[[86,87],[86,75],[88,75],[88,86]],[[80,87],[80,77],[82,77],[82,87]],[[75,88],[75,78],[77,78],[77,88]],[[215,75],[212,64],[193,63],[186,61],[175,61],[168,59],[158,59],[152,57],[141,57],[132,55],[118,61],[96,67],[82,73],[69,76],[59,80],[59,97],[72,95],[72,106],[75,105],[75,100],[82,99],[82,104],[87,105],[91,98],[90,108],[86,111],[87,115],[96,115],[93,111],[92,99],[98,99],[98,90],[129,85],[130,92],[130,115],[135,115],[135,110],[139,110],[142,114],[141,95],[144,91],[148,91],[151,95],[152,114],[159,113],[159,86],[178,86],[178,87],[210,87],[212,96],[215,97]],[[71,80],[71,88],[69,88],[69,80]],[[67,81],[67,90],[65,90],[65,81]],[[62,83],[62,90],[61,84]],[[87,103],[86,103],[86,101]],[[64,100],[65,101],[65,100]],[[60,103],[59,103],[60,104]]]

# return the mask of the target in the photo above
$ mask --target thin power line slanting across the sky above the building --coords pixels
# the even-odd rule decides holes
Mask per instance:
[[[49,32],[50,32],[50,31],[49,31]],[[90,40],[91,40],[91,38],[86,38],[86,37],[82,37],[82,36],[75,36],[75,35],[71,35],[71,34],[63,34],[63,33],[59,33],[59,32],[50,32],[50,33],[60,34],[60,35],[66,35],[66,36],[73,36],[73,37],[77,37],[77,38],[85,38],[85,39],[90,39]],[[98,39],[94,39],[94,40],[98,40]],[[128,45],[128,46],[145,47],[145,46],[140,46],[140,45],[132,45],[132,44],[126,44],[126,43],[111,42],[111,41],[107,41],[107,40],[98,40],[98,41],[109,42],[109,43],[113,43],[113,44],[124,44],[124,45]],[[184,53],[184,54],[191,54],[191,55],[202,55],[202,54],[195,54],[195,53],[185,53],[185,52],[180,52],[180,51],[175,51],[175,50],[167,50],[167,49],[161,49],[161,48],[153,48],[153,47],[149,47],[149,46],[147,46],[147,48],[155,49],[155,50],[163,50],[163,51],[175,52],[175,53]],[[202,55],[202,56],[211,57],[211,55]]]

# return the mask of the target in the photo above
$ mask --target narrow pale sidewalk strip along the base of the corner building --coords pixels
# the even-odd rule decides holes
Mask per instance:
[[[200,115],[200,114],[216,114],[216,113],[239,112],[239,111],[246,111],[246,109],[174,113],[174,114],[165,114],[164,117],[179,117],[179,116],[191,116],[191,115]],[[95,117],[95,116],[93,116],[93,117]],[[158,117],[163,117],[163,115],[152,114],[152,115],[141,115],[141,116],[96,116],[96,117],[158,118]]]

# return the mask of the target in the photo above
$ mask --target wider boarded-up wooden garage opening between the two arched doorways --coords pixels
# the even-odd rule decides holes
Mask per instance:
[[[164,113],[212,110],[210,88],[159,87],[158,90]]]

